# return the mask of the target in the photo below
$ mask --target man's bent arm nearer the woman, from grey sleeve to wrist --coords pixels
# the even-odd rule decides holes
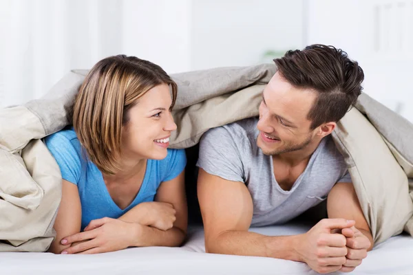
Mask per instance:
[[[280,237],[274,243],[270,236],[248,232],[253,201],[244,183],[210,175],[200,168],[198,199],[206,252],[299,261],[292,251],[293,236]]]

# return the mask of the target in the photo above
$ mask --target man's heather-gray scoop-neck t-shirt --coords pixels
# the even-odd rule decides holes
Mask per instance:
[[[258,118],[207,131],[200,141],[197,166],[211,175],[244,182],[253,199],[253,226],[285,223],[327,198],[337,182],[352,182],[343,156],[330,135],[321,140],[304,173],[283,190],[271,156],[257,146]]]

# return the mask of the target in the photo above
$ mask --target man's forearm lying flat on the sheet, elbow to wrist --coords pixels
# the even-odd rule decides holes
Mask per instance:
[[[265,236],[247,231],[226,231],[206,243],[206,250],[215,254],[263,256],[301,261],[296,252],[300,235]]]

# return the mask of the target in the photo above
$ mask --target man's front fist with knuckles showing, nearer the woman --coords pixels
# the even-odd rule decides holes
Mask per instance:
[[[332,230],[351,228],[355,221],[346,219],[323,219],[307,233],[302,234],[297,244],[300,261],[304,261],[319,273],[340,270],[346,263],[348,249],[346,236],[332,233]]]

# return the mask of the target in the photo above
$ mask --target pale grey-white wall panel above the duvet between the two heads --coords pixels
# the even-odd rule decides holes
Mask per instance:
[[[268,50],[304,45],[306,0],[194,0],[191,69],[262,62]]]

